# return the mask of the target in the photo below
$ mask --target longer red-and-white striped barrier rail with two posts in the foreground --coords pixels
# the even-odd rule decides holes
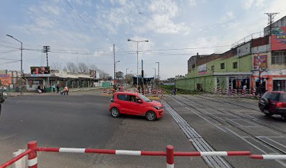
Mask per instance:
[[[55,152],[55,153],[99,153],[110,155],[148,155],[161,156],[166,158],[166,166],[168,168],[174,167],[174,157],[202,157],[202,156],[242,156],[250,155],[250,151],[212,151],[212,152],[175,152],[173,146],[166,146],[166,151],[125,151],[113,149],[95,149],[95,148],[47,148],[37,146],[36,141],[30,141],[27,144],[27,151],[21,153],[15,158],[0,165],[0,168],[6,168],[21,158],[28,155],[28,167],[38,167],[38,152]]]

